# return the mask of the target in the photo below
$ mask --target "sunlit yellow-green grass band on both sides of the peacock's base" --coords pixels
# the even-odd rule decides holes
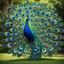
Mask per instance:
[[[4,54],[4,53],[0,53],[0,60],[19,60],[19,59],[28,59],[29,58],[29,54],[27,54],[26,56],[21,56],[21,57],[17,57],[17,56],[12,56],[12,54]],[[53,55],[52,57],[44,57],[42,55],[41,57],[42,59],[57,59],[57,60],[64,60],[64,55],[62,54],[58,54],[58,55]]]

